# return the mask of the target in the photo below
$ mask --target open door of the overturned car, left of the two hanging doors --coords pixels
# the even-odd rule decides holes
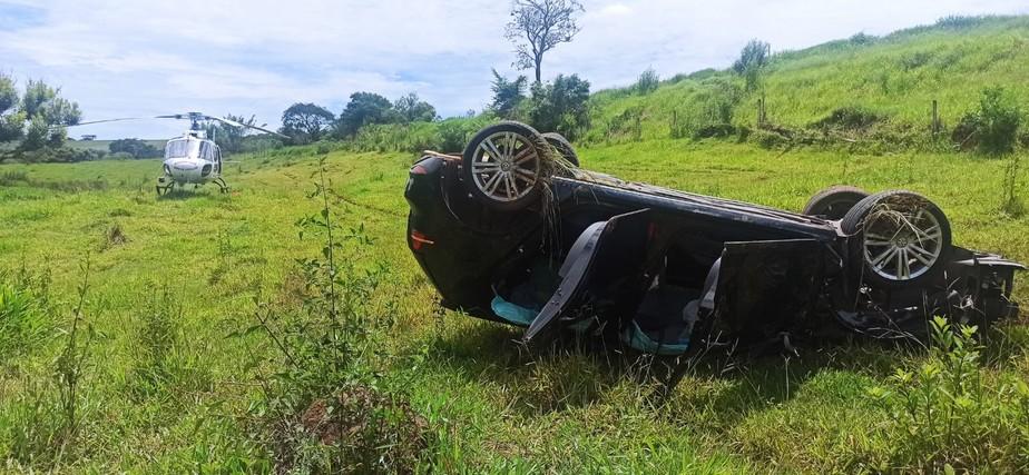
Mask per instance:
[[[649,209],[590,225],[572,245],[561,283],[526,330],[527,345],[550,340],[560,328],[591,318],[600,308],[631,310],[643,298]]]

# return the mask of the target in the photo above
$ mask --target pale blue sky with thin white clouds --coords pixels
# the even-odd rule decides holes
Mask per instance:
[[[594,90],[725,68],[752,38],[774,51],[948,14],[1029,13],[1029,0],[584,0],[581,32],[543,61]],[[335,113],[355,91],[416,92],[444,117],[489,102],[490,69],[513,76],[507,0],[0,0],[0,72],[42,79],[84,121],[186,111],[255,115],[277,128],[294,102]],[[527,76],[532,71],[523,71]],[[84,126],[99,138],[168,138],[186,123]]]

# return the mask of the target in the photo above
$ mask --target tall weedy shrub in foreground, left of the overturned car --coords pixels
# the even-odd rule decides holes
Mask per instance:
[[[320,257],[297,261],[298,277],[283,289],[283,299],[301,308],[258,298],[256,323],[234,334],[267,337],[281,358],[273,376],[259,377],[265,389],[255,415],[284,473],[413,473],[428,447],[427,424],[379,380],[390,357],[380,338],[395,311],[380,290],[389,270],[359,261],[371,238],[363,226],[340,227],[324,157],[318,170],[308,196],[321,212],[296,226],[301,238],[316,236],[324,247]]]

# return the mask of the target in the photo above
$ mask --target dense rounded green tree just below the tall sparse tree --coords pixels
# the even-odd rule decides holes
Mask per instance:
[[[575,140],[589,119],[589,81],[559,75],[553,82],[532,85],[529,122],[542,131],[558,131]]]

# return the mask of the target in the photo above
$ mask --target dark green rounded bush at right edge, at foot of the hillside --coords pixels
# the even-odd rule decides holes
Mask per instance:
[[[951,139],[963,150],[978,148],[983,154],[1007,154],[1015,150],[1021,120],[1021,110],[1003,88],[986,88],[979,109],[961,118]]]

